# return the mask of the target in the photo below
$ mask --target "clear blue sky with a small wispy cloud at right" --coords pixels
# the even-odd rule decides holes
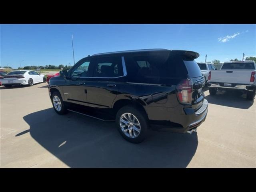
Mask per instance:
[[[255,24],[0,24],[0,66],[73,65],[72,34],[75,62],[149,48],[195,51],[197,62],[256,56]]]

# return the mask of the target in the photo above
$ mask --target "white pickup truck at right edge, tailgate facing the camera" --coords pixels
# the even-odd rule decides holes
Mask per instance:
[[[246,98],[253,100],[256,93],[256,64],[254,61],[224,62],[220,70],[212,70],[209,75],[209,92],[217,90],[238,90],[246,92]]]

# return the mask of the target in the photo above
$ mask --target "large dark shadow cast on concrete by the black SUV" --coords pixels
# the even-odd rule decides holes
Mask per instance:
[[[184,168],[198,146],[195,133],[154,131],[149,131],[144,142],[132,144],[120,136],[114,122],[102,122],[73,112],[60,116],[52,108],[23,118],[30,125],[32,138],[73,168]]]

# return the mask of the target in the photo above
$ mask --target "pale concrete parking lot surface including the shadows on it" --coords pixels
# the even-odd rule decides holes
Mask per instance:
[[[113,122],[56,114],[47,83],[0,86],[0,167],[255,168],[255,99],[205,95],[208,116],[197,134],[149,131],[132,144]]]

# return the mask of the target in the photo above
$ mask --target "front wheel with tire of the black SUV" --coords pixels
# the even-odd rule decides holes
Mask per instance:
[[[56,92],[56,91],[53,92],[51,100],[52,100],[52,106],[56,113],[58,113],[59,115],[63,115],[68,112],[67,107],[65,106],[59,92]]]

